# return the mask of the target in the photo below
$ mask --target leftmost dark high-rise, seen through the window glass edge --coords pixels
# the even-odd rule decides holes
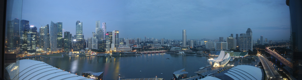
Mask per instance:
[[[7,23],[8,51],[16,51],[13,53],[18,53],[19,50],[16,49],[20,48],[20,20],[15,18]]]

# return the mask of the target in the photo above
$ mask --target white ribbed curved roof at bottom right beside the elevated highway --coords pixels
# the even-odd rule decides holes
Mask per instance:
[[[262,72],[261,69],[254,66],[238,65],[231,68],[227,73],[234,80],[261,80]]]

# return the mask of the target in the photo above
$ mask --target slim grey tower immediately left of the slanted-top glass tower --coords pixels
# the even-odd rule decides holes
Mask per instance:
[[[49,24],[44,26],[44,49],[43,51],[49,51],[50,49],[50,34],[49,34]]]

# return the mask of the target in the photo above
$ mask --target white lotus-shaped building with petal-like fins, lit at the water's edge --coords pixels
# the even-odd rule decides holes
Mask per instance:
[[[208,59],[207,61],[213,67],[220,67],[226,65],[226,63],[230,61],[230,58],[231,57],[229,53],[226,53],[226,55],[224,55],[224,51],[220,51],[220,54],[217,58]]]

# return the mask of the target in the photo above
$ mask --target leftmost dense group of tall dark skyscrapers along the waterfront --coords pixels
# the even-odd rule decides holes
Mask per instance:
[[[63,23],[51,21],[44,27],[30,26],[28,20],[14,19],[8,21],[7,51],[12,53],[36,53],[43,51],[62,51],[63,48]]]

